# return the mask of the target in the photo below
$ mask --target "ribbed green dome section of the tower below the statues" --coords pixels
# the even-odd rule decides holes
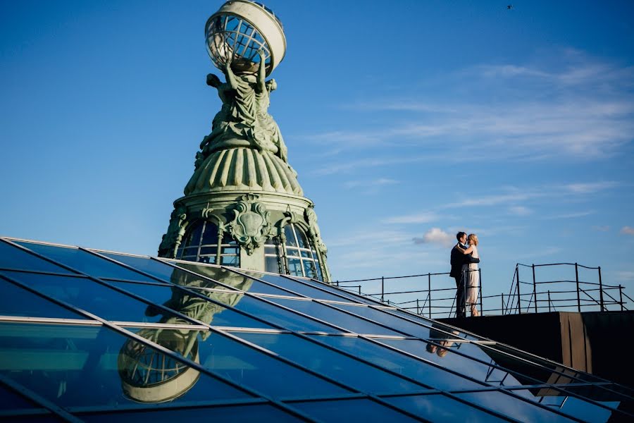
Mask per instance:
[[[207,157],[185,187],[185,195],[249,190],[304,195],[297,173],[272,152],[248,147],[221,149]]]

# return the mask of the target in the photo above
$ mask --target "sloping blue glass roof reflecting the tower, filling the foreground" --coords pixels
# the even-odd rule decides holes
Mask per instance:
[[[306,278],[0,238],[0,417],[632,421],[634,392]]]

